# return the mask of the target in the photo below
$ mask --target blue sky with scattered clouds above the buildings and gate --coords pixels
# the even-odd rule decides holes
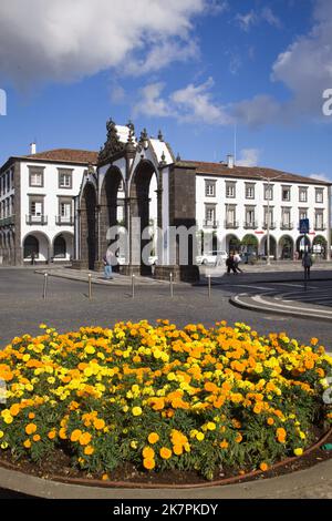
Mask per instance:
[[[237,126],[238,162],[332,181],[330,0],[2,0],[0,88],[1,163],[98,150],[112,116],[200,161]]]

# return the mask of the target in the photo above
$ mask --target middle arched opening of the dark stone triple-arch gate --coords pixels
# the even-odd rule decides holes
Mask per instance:
[[[127,227],[125,201],[125,185],[121,171],[116,167],[111,167],[104,177],[101,190],[101,256],[105,254],[110,243],[113,243],[118,238],[117,234],[112,234],[112,238],[110,241],[107,238],[108,229],[113,226]]]

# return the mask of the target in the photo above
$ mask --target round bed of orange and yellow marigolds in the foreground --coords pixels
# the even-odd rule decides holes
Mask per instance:
[[[315,338],[304,346],[225,321],[41,327],[0,351],[0,447],[14,459],[61,451],[103,479],[127,463],[212,479],[300,456],[314,426],[332,422],[322,399],[332,358]]]

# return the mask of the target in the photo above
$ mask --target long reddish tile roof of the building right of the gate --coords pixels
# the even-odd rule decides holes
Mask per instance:
[[[195,167],[197,174],[205,175],[220,175],[225,177],[239,177],[248,180],[260,180],[267,177],[272,181],[273,177],[278,177],[279,182],[286,183],[305,183],[305,184],[323,184],[329,185],[328,181],[315,180],[312,177],[304,177],[303,175],[291,174],[289,172],[282,172],[274,168],[266,168],[262,166],[237,166],[229,168],[225,163],[207,163],[203,161],[178,161],[178,166]],[[277,181],[277,180],[274,180]]]

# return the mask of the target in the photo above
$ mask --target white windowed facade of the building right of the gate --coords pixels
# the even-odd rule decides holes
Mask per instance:
[[[236,173],[236,166],[234,170]],[[267,255],[269,227],[270,254],[277,259],[297,258],[297,252],[304,249],[300,218],[309,218],[311,248],[318,236],[330,244],[329,186],[312,184],[310,178],[308,183],[282,178],[268,182],[201,173],[196,176],[196,218],[200,231],[216,235],[218,249],[243,249],[237,241],[241,243],[251,235],[257,238],[258,255]],[[284,243],[292,245],[291,249]],[[321,253],[318,246],[314,249]]]

